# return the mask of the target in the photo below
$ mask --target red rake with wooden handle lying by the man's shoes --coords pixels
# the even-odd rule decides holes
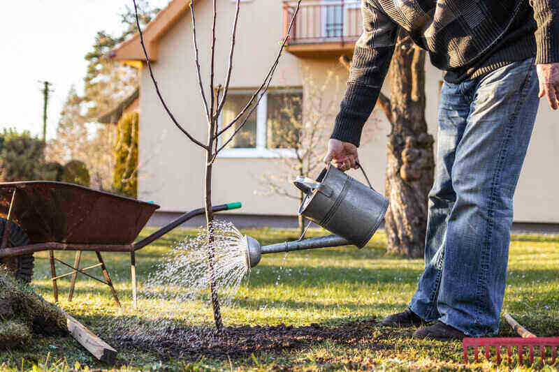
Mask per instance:
[[[467,348],[474,348],[474,358],[477,362],[478,348],[485,348],[485,357],[489,360],[491,359],[490,347],[495,348],[495,354],[497,356],[496,362],[500,364],[501,362],[501,348],[507,348],[507,359],[510,363],[511,361],[511,348],[515,347],[518,349],[518,364],[523,362],[523,352],[524,347],[529,348],[530,354],[530,364],[534,363],[534,348],[539,348],[539,355],[542,358],[542,364],[545,364],[546,347],[551,348],[551,364],[555,362],[556,359],[556,349],[559,347],[559,337],[537,337],[532,334],[527,329],[514,320],[511,315],[504,314],[504,319],[507,320],[509,325],[518,332],[520,337],[491,337],[491,338],[464,338],[462,345],[464,348],[464,363],[468,362],[467,359]]]

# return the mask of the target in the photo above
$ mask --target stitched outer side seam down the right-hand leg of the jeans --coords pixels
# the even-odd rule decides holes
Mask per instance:
[[[532,64],[533,64],[533,59],[532,59]],[[484,288],[484,284],[487,281],[487,271],[489,268],[489,251],[491,245],[491,237],[493,235],[493,228],[495,225],[495,223],[493,223],[493,217],[495,215],[495,202],[497,200],[497,191],[498,191],[497,185],[504,166],[504,160],[507,156],[507,149],[508,149],[507,144],[510,142],[512,137],[511,136],[512,126],[514,121],[516,121],[518,117],[521,103],[523,102],[526,96],[526,87],[528,86],[528,82],[530,81],[532,64],[530,64],[530,68],[528,68],[528,73],[526,73],[526,77],[524,78],[521,94],[520,97],[518,98],[518,103],[516,103],[516,107],[514,107],[514,112],[511,115],[511,119],[507,124],[507,128],[505,128],[505,135],[504,135],[504,140],[501,144],[501,151],[499,152],[499,156],[498,156],[497,168],[495,170],[495,175],[493,176],[493,181],[491,181],[491,197],[488,205],[488,221],[487,221],[488,226],[486,230],[486,236],[484,239],[483,251],[481,252],[481,267],[480,267],[480,274],[477,281],[477,290],[476,290],[476,302],[477,302],[476,322],[478,322],[479,315],[483,313],[483,308],[482,308],[483,304],[481,304],[482,297],[483,297],[482,288]]]

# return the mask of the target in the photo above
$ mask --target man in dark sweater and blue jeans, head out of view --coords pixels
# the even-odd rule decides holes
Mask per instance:
[[[498,332],[512,197],[538,96],[559,103],[559,1],[362,0],[345,97],[326,163],[355,168],[398,29],[445,70],[435,183],[429,193],[425,271],[402,313],[384,325],[429,327],[414,338]],[[539,88],[539,94],[538,94]]]

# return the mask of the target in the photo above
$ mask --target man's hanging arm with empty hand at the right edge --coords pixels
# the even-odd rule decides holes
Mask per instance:
[[[530,0],[537,23],[536,64],[539,98],[547,97],[553,110],[559,107],[559,1]]]

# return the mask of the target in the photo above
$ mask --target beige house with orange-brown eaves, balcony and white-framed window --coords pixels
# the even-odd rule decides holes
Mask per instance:
[[[279,40],[286,32],[294,6],[295,3],[290,1],[241,1],[232,91],[224,115],[246,102],[247,94],[261,84],[275,59]],[[212,2],[197,0],[194,8],[202,76],[207,82]],[[216,79],[223,84],[235,1],[217,0],[217,9]],[[300,96],[307,89],[305,76],[323,82],[328,71],[333,71],[342,84],[335,86],[332,82],[328,94],[330,99],[339,102],[348,73],[338,58],[342,54],[351,58],[360,32],[358,1],[303,0],[301,3],[298,21],[268,95],[247,128],[243,129],[245,135],[232,142],[231,148],[226,149],[215,163],[212,201],[215,204],[242,202],[239,213],[231,216],[240,224],[295,223],[296,200],[255,193],[262,189],[259,175],[281,172],[282,169],[277,151],[267,148],[266,119],[282,101],[278,97]],[[171,1],[145,27],[144,38],[154,75],[170,110],[191,134],[204,140],[207,128],[194,65],[188,1]],[[161,204],[159,218],[171,218],[180,211],[201,207],[203,151],[173,126],[161,106],[149,71],[145,68],[139,35],[122,43],[114,51],[114,57],[141,69],[139,197]],[[436,137],[437,100],[442,73],[427,64],[426,74],[426,119],[430,133]],[[559,193],[556,192],[559,172],[553,165],[554,159],[559,158],[559,148],[555,146],[559,140],[558,124],[557,114],[542,102],[514,200],[514,221],[517,223],[559,223]],[[373,186],[382,192],[389,124],[382,113],[377,113],[373,114],[368,127],[372,128],[372,135],[361,146],[361,163],[368,171]],[[358,172],[351,175],[361,179]]]

